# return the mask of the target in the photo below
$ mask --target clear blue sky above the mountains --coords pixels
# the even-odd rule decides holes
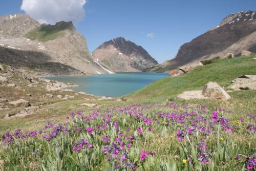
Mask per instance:
[[[22,0],[1,1],[0,15],[24,13],[21,5]],[[256,10],[256,1],[88,0],[83,8],[86,16],[75,26],[87,38],[91,52],[102,42],[123,36],[161,63],[175,57],[185,42],[218,26],[230,13]]]

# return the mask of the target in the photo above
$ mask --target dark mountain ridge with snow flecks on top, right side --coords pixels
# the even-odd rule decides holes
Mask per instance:
[[[256,11],[242,11],[225,17],[221,24],[182,45],[172,60],[146,71],[164,72],[229,53],[240,56],[242,50],[256,52]]]

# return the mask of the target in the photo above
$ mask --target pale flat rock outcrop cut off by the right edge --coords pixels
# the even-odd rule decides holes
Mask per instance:
[[[232,80],[232,84],[228,88],[233,90],[256,90],[256,75],[242,75]]]

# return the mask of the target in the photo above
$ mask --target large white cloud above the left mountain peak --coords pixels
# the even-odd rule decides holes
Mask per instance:
[[[23,0],[20,9],[40,23],[72,21],[76,24],[86,14],[84,4],[86,0]]]

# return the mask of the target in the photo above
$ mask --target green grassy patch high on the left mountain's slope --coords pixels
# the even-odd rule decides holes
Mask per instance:
[[[66,30],[70,27],[70,23],[62,23],[59,26],[41,26],[40,28],[34,29],[29,32],[26,37],[31,40],[38,40],[38,41],[49,41],[54,40],[61,36],[63,30]]]

